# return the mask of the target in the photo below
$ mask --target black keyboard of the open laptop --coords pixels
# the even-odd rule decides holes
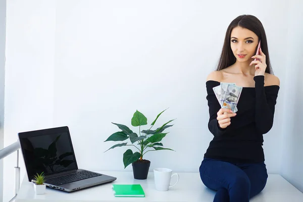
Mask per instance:
[[[78,170],[75,173],[69,174],[69,175],[64,175],[64,176],[60,176],[60,177],[56,177],[56,178],[52,178],[52,179],[47,179],[45,181],[45,183],[47,184],[52,184],[52,185],[62,185],[62,184],[67,184],[70,182],[76,182],[79,180],[84,180],[84,179],[88,179],[88,178],[92,178],[92,177],[97,177],[100,176],[102,174],[99,173],[93,173],[93,172],[89,172],[86,170]]]

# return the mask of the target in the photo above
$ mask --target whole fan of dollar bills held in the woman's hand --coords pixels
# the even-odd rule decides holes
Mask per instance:
[[[228,108],[234,113],[238,111],[237,104],[242,92],[242,87],[235,83],[220,83],[220,85],[213,87],[218,102],[221,108]]]

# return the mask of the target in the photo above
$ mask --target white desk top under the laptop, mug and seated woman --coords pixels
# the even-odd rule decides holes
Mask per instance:
[[[35,195],[33,184],[24,177],[16,201],[18,202],[91,202],[91,201],[188,201],[203,202],[213,201],[215,191],[207,188],[200,180],[199,173],[179,173],[178,184],[169,191],[157,191],[154,184],[154,173],[148,173],[146,180],[135,180],[132,172],[96,171],[106,175],[117,177],[117,180],[104,185],[88,189],[66,193],[59,190],[46,188],[44,195]],[[174,178],[173,178],[174,180]],[[173,181],[172,181],[173,182]],[[111,185],[115,184],[141,184],[145,197],[115,197]],[[280,175],[269,175],[264,190],[254,198],[252,202],[302,202],[303,193],[292,186]]]

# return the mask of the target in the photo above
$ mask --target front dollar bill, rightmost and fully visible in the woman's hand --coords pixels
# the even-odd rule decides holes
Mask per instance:
[[[236,85],[227,85],[226,92],[223,98],[222,108],[228,108],[235,111],[236,105],[240,98],[242,87]]]

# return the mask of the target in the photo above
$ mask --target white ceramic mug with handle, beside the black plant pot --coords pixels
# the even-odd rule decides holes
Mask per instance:
[[[155,168],[154,176],[155,176],[155,185],[158,191],[167,191],[170,187],[175,186],[179,181],[178,173],[172,174],[172,170],[168,168]],[[172,177],[176,175],[177,181],[175,184],[170,185]]]

